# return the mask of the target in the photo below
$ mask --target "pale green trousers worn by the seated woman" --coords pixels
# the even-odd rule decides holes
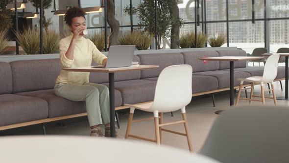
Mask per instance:
[[[85,101],[90,126],[107,124],[109,120],[109,89],[105,85],[90,83],[59,83],[54,87],[57,96],[70,101]]]

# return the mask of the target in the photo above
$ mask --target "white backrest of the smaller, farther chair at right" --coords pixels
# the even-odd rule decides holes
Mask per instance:
[[[280,55],[278,54],[273,54],[268,57],[265,67],[264,67],[262,81],[271,82],[276,78],[277,71],[278,71],[279,58],[280,58]]]

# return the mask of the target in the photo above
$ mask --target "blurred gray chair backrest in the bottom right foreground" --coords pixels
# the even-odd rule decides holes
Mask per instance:
[[[236,107],[222,114],[199,151],[221,163],[289,163],[288,107]]]

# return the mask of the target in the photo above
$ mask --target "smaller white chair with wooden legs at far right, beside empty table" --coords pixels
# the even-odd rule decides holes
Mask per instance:
[[[280,58],[280,55],[278,54],[273,54],[268,57],[265,67],[264,67],[263,77],[256,76],[256,77],[249,77],[246,79],[238,79],[241,81],[241,84],[239,87],[240,91],[237,96],[236,105],[239,104],[239,100],[249,100],[249,103],[251,103],[251,101],[259,101],[265,104],[265,98],[273,99],[274,104],[277,105],[273,81],[277,76],[279,58]],[[251,82],[251,88],[245,88],[245,89],[251,89],[250,99],[240,98],[241,90],[245,90],[245,89],[242,89],[242,85],[244,81]],[[264,84],[269,83],[269,82],[271,83],[271,89],[264,90]],[[255,83],[261,84],[261,96],[253,95]],[[273,97],[265,97],[264,92],[270,91],[270,90],[273,93]],[[262,98],[262,100],[253,99],[253,97],[259,97],[259,98]]]

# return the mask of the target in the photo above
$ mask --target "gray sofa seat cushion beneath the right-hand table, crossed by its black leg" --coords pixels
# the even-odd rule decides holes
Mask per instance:
[[[218,80],[218,89],[230,87],[230,71],[226,70],[206,71],[206,72],[193,73],[193,75],[216,77]],[[250,74],[247,72],[234,71],[234,86],[240,85],[240,81],[237,80],[238,78],[248,78],[248,77],[250,77]],[[244,82],[244,84],[247,84],[247,82]]]

